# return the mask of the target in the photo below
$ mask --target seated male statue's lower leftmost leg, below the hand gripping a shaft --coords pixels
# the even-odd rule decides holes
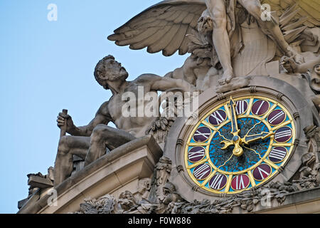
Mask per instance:
[[[55,158],[55,182],[57,186],[73,172],[73,155],[85,158],[90,147],[90,137],[64,136],[60,138]]]

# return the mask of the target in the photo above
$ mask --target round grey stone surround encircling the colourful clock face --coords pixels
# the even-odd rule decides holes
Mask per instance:
[[[306,100],[306,95],[290,83],[268,76],[246,76],[244,78],[250,81],[249,85],[244,88],[219,93],[214,88],[205,90],[199,95],[198,103],[194,105],[196,109],[188,111],[192,115],[177,118],[169,130],[164,145],[164,157],[172,162],[169,181],[175,185],[176,191],[181,197],[188,202],[193,202],[195,199],[198,201],[210,199],[212,201],[221,197],[233,196],[203,190],[191,180],[185,165],[185,147],[193,127],[198,123],[198,120],[201,120],[200,118],[203,118],[203,115],[213,110],[213,107],[225,103],[230,99],[230,96],[234,100],[250,95],[271,98],[286,108],[290,113],[289,116],[293,118],[294,138],[292,138],[292,143],[294,146],[291,154],[285,157],[285,161],[282,161],[277,175],[267,180],[264,185],[256,186],[252,190],[262,186],[268,187],[271,180],[283,184],[294,178],[302,165],[302,156],[306,152],[305,142],[307,140],[304,129],[314,123],[320,125],[319,112],[316,111],[313,104]],[[281,146],[281,144],[278,145]]]

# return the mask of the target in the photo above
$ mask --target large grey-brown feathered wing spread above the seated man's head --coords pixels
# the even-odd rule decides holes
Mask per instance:
[[[196,30],[198,19],[206,10],[204,0],[166,0],[149,7],[114,30],[108,39],[133,50],[147,47],[149,53],[164,56],[188,52],[187,34]]]

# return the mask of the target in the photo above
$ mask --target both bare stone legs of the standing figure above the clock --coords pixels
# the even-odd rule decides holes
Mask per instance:
[[[303,57],[297,53],[287,41],[284,40],[282,31],[275,19],[270,16],[270,20],[262,21],[262,7],[259,0],[231,0],[229,3],[229,9],[227,11],[225,6],[225,0],[206,0],[206,6],[210,15],[213,18],[213,44],[215,46],[215,51],[218,53],[218,57],[221,65],[223,66],[223,78],[220,79],[220,85],[224,83],[229,83],[231,78],[234,77],[233,67],[231,66],[231,53],[230,53],[230,40],[229,37],[232,36],[233,31],[235,31],[235,4],[239,2],[247,12],[255,18],[259,26],[262,28],[266,34],[272,35],[272,38],[277,42],[280,49],[287,56],[294,56],[294,61],[297,63],[303,62]],[[230,26],[228,32],[228,20],[227,12],[230,18]]]

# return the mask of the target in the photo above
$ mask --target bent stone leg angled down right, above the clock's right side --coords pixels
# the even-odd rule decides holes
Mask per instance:
[[[262,21],[262,7],[259,0],[238,0],[239,3],[247,9],[249,14],[251,14],[257,20],[257,23],[262,28],[262,31],[267,35],[271,35],[272,38],[277,42],[279,48],[289,57],[294,56],[294,61],[297,63],[303,63],[303,57],[294,51],[294,49],[289,46],[289,43],[284,39],[283,33],[279,28],[279,25],[274,21],[274,19]]]

